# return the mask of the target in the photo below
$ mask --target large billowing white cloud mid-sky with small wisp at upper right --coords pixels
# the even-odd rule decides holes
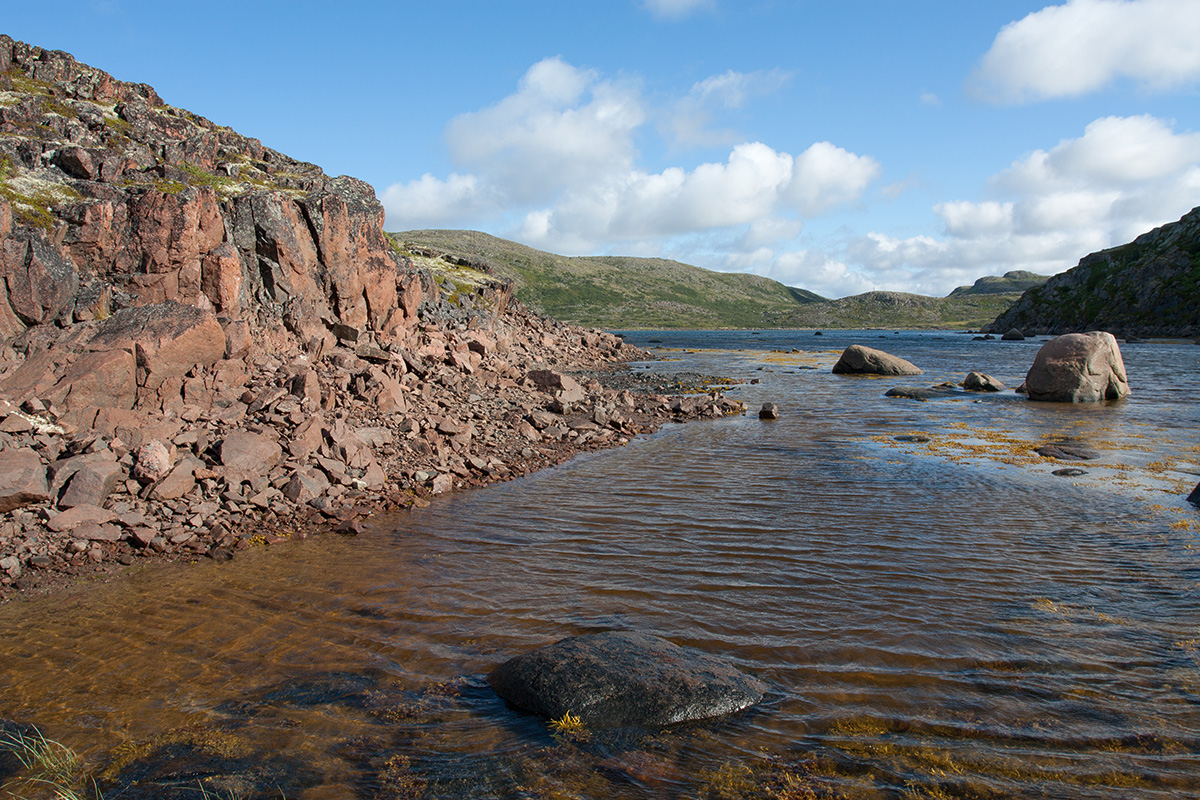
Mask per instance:
[[[726,72],[695,84],[700,106],[737,108],[786,79]],[[869,156],[818,142],[798,155],[742,142],[724,161],[659,172],[640,167],[648,124],[635,84],[606,80],[560,58],[539,61],[516,91],[446,127],[458,172],[382,193],[388,224],[478,224],[566,253],[622,242],[643,252],[672,236],[737,231],[756,245],[854,201],[880,174]],[[794,233],[792,234],[794,235]]]

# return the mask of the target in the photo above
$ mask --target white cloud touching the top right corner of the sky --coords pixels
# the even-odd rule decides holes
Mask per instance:
[[[1196,0],[1069,0],[1009,23],[971,78],[994,102],[1073,97],[1128,78],[1162,90],[1200,80]]]

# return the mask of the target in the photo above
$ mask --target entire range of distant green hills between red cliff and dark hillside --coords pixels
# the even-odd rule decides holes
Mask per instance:
[[[1037,279],[980,278],[949,297],[871,291],[841,300],[756,275],[655,258],[566,257],[473,230],[390,234],[409,258],[444,257],[514,282],[522,301],[564,321],[614,329],[978,327]]]

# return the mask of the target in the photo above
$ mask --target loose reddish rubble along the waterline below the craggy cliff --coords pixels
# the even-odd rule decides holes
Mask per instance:
[[[342,362],[355,357],[335,351],[314,371],[353,380]],[[304,385],[298,367],[312,369],[302,357],[254,362],[254,379],[232,411],[191,421],[109,434],[64,431],[46,411],[10,410],[0,421],[0,504],[19,505],[0,515],[0,602],[128,565],[226,561],[293,537],[354,535],[380,511],[520,477],[666,422],[744,411],[719,392],[654,393],[678,381],[642,379],[593,353],[572,366],[574,378],[530,371],[491,392],[439,369],[428,383],[412,381],[430,387],[430,397],[404,414],[353,395],[322,409],[292,389]],[[451,410],[464,408],[472,410]]]

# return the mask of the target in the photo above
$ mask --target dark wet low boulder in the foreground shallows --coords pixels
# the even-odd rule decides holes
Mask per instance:
[[[588,633],[505,661],[487,676],[518,709],[592,728],[655,727],[742,710],[766,686],[724,661],[631,631]]]

